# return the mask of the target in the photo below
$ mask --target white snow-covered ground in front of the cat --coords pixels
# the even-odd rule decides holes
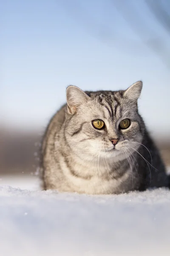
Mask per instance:
[[[170,255],[168,189],[89,196],[38,184],[34,176],[1,177],[0,255]]]

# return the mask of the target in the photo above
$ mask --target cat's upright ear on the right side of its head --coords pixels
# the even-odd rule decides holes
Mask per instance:
[[[123,96],[137,101],[142,91],[142,81],[137,81],[125,90]]]

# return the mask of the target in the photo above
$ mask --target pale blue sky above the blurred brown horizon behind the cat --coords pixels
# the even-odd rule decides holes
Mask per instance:
[[[144,1],[138,1],[136,14],[137,20],[145,17],[146,41],[158,34],[164,40],[165,57],[166,30]],[[169,133],[170,68],[111,1],[6,0],[0,3],[0,21],[2,122],[45,127],[65,102],[69,84],[119,90],[142,79],[139,111],[151,132]]]

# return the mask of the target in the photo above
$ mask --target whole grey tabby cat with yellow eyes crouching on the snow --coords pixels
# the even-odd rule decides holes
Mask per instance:
[[[67,104],[51,119],[42,142],[44,189],[118,194],[168,186],[138,113],[141,90],[142,81],[119,91],[67,87]]]

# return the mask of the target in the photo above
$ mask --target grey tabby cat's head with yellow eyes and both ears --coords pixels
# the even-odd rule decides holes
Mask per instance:
[[[84,92],[68,86],[65,137],[70,148],[85,159],[125,159],[144,134],[137,107],[141,90],[142,81],[119,91]]]

